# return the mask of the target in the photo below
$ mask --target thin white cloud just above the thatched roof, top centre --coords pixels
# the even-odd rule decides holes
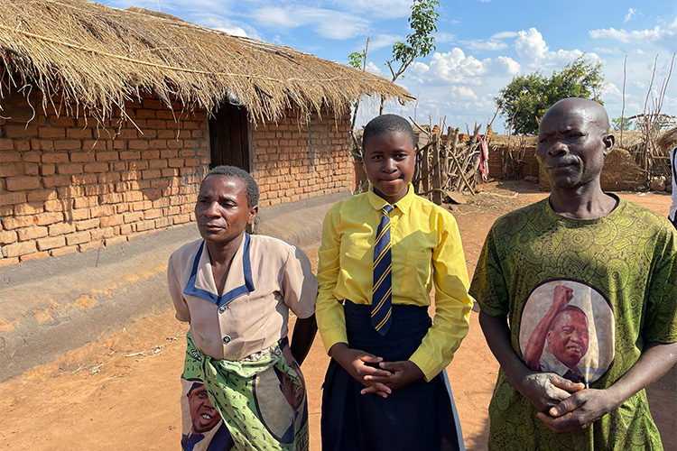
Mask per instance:
[[[253,17],[262,25],[275,28],[310,26],[320,36],[336,40],[365,34],[369,24],[365,18],[355,14],[296,6],[259,8],[255,10]]]

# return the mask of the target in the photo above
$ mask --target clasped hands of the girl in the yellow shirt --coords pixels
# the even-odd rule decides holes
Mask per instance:
[[[359,349],[349,348],[345,343],[331,346],[329,354],[365,388],[362,394],[376,393],[387,398],[394,390],[423,377],[421,369],[413,362],[384,362],[382,357]],[[369,364],[378,364],[378,367]]]

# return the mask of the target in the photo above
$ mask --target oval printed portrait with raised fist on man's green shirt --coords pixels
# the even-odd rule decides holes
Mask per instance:
[[[613,364],[615,318],[608,299],[582,281],[536,286],[524,302],[519,345],[533,371],[594,383]]]

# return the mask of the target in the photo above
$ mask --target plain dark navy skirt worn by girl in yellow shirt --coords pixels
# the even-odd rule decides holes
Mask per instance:
[[[393,306],[393,322],[385,336],[371,325],[371,306],[346,300],[348,345],[383,357],[407,360],[431,327],[428,309]],[[334,359],[329,362],[322,393],[322,450],[464,450],[459,416],[447,373],[431,382],[419,380],[387,398],[360,394],[362,383]]]

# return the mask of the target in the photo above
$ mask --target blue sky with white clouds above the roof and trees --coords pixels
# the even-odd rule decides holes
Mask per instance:
[[[109,0],[108,6],[143,6],[232,34],[290,46],[346,64],[369,37],[367,70],[391,78],[395,41],[409,32],[412,0]],[[417,122],[487,124],[494,98],[517,74],[540,70],[550,76],[585,52],[601,60],[607,85],[602,99],[610,117],[621,115],[626,64],[625,116],[645,111],[657,57],[654,101],[677,51],[677,2],[441,0],[436,51],[417,60],[397,83],[418,102],[386,111],[416,116]],[[677,61],[663,101],[663,113],[677,115]],[[358,125],[378,114],[362,109]],[[504,131],[505,118],[494,129]]]

